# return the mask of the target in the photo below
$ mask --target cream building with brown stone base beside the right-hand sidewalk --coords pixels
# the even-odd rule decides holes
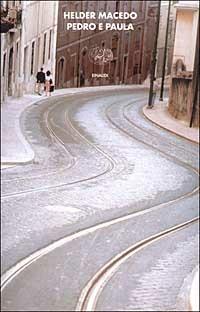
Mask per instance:
[[[194,103],[195,92],[199,97],[199,77],[196,79],[197,83],[194,83],[194,73],[197,70],[195,55],[198,54],[199,3],[180,1],[175,7],[176,32],[168,109],[175,118],[185,120],[188,125],[193,118],[193,125],[199,126],[197,97]]]

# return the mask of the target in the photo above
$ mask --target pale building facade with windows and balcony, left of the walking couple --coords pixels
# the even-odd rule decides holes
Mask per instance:
[[[2,100],[33,93],[41,67],[55,73],[58,1],[2,2],[8,22],[15,10],[21,12],[20,21],[1,29]]]

